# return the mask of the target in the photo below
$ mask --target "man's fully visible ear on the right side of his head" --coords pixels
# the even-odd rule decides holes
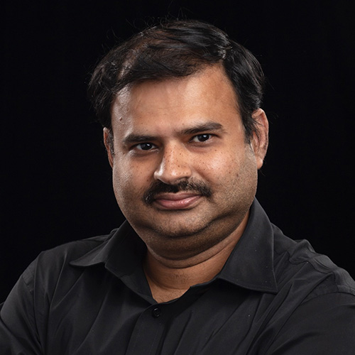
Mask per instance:
[[[257,109],[252,114],[256,121],[256,129],[258,132],[253,133],[251,145],[256,158],[256,165],[258,169],[263,166],[263,160],[268,150],[268,118],[263,109]]]

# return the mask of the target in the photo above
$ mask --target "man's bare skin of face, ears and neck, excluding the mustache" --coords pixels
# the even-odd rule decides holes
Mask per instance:
[[[214,277],[239,241],[256,194],[268,121],[246,143],[236,94],[218,65],[195,75],[143,82],[121,92],[112,105],[114,153],[104,129],[116,200],[147,245],[144,263],[158,302],[179,297]],[[197,182],[199,190],[160,192],[153,183]]]

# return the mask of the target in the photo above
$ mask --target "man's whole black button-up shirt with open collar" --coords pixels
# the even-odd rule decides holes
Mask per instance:
[[[40,253],[1,308],[2,354],[355,354],[355,283],[254,202],[222,271],[158,304],[125,222]]]

